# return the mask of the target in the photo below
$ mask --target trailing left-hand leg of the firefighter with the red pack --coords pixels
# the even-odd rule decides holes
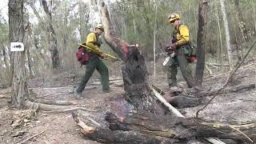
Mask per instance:
[[[78,85],[78,88],[76,92],[78,94],[82,94],[82,91],[85,89],[87,82],[89,81],[92,74],[94,74],[94,70],[96,66],[98,65],[97,59],[91,59],[88,64],[86,65],[86,74],[82,77],[82,80],[80,84]]]

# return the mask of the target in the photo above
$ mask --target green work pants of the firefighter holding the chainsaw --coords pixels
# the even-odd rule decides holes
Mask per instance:
[[[183,78],[187,81],[188,78],[192,78],[192,72],[190,70],[190,66],[186,60],[186,50],[184,46],[175,50],[176,56],[170,59],[167,67],[167,82],[168,85],[177,86],[177,67],[180,67]]]

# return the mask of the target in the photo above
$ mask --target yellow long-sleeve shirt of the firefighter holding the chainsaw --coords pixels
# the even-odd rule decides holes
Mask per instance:
[[[177,42],[178,46],[181,46],[186,42],[189,42],[190,40],[190,31],[188,27],[185,25],[175,27],[173,34],[174,34],[174,39],[176,39],[175,41]]]

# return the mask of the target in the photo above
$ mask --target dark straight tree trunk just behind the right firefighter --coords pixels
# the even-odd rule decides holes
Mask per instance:
[[[207,24],[207,0],[200,0],[198,10],[198,62],[196,65],[196,85],[202,86],[203,71],[205,69],[205,48],[206,48],[206,24]]]

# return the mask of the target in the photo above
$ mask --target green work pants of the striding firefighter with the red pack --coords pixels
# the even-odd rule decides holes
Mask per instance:
[[[110,90],[109,71],[102,60],[95,56],[94,58],[90,58],[90,61],[86,64],[86,74],[82,77],[82,81],[77,88],[78,93],[82,93],[82,91],[85,89],[86,84],[91,75],[94,74],[95,69],[101,75],[102,90]]]

